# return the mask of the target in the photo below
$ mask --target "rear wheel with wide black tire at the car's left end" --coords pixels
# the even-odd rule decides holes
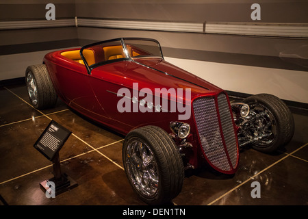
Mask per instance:
[[[31,105],[38,110],[55,106],[57,94],[46,65],[38,64],[27,67],[25,80]]]

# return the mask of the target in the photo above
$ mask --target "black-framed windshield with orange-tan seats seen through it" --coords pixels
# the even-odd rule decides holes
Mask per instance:
[[[89,72],[110,62],[142,57],[162,58],[159,42],[145,38],[120,38],[96,42],[81,48],[81,58],[86,61]]]

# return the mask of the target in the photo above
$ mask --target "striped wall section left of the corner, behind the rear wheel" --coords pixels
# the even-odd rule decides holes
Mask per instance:
[[[0,81],[24,77],[27,66],[41,64],[48,51],[78,45],[74,22],[49,27],[45,6],[50,2],[0,1]],[[56,10],[55,21],[75,18],[75,1],[52,2]]]

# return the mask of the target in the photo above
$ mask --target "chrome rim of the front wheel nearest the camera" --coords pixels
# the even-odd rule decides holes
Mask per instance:
[[[155,196],[159,175],[157,163],[149,146],[139,138],[131,138],[127,144],[127,172],[136,190],[144,196]]]

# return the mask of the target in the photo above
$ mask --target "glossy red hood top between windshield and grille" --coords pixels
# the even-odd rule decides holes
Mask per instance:
[[[138,89],[149,88],[169,90],[170,88],[190,88],[191,98],[200,95],[211,95],[221,92],[222,89],[188,73],[162,59],[140,58],[134,61],[123,61],[99,66],[92,70],[94,77],[120,83],[123,87],[133,88],[138,83]]]

